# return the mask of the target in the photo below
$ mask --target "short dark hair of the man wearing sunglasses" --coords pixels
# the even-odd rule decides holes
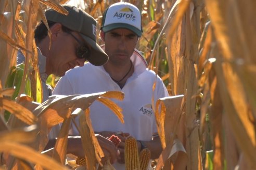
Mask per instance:
[[[56,24],[57,22],[53,22],[53,21],[47,21],[49,28],[52,27],[54,24]],[[61,25],[62,31],[63,32],[72,32],[72,30],[68,29],[66,26]],[[48,29],[45,26],[44,22],[41,21],[35,28],[35,43],[40,43],[42,39],[44,39],[46,36],[48,36]]]

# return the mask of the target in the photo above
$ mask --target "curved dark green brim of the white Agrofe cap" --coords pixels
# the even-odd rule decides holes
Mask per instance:
[[[131,30],[132,32],[134,32],[138,37],[142,36],[142,31],[140,31],[139,29],[137,29],[136,27],[130,25],[130,24],[125,24],[125,23],[113,23],[113,24],[109,24],[106,26],[103,26],[102,30],[103,32],[109,32],[111,30],[114,29],[128,29]]]

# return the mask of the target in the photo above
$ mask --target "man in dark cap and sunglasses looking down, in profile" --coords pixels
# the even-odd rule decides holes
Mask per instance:
[[[95,66],[103,65],[108,61],[108,55],[96,43],[96,21],[85,11],[73,6],[63,6],[69,14],[62,15],[53,9],[48,9],[45,16],[51,36],[43,22],[36,26],[35,42],[38,51],[40,77],[43,86],[43,101],[52,95],[52,89],[47,86],[46,79],[50,74],[63,76],[67,70],[75,66],[83,66],[89,61]],[[24,55],[19,51],[17,64],[24,62]],[[57,136],[56,126],[50,132],[51,139],[47,148],[54,147]],[[110,162],[117,159],[118,150],[110,140],[97,135],[101,148]],[[83,157],[84,152],[79,137],[68,139],[67,153]]]

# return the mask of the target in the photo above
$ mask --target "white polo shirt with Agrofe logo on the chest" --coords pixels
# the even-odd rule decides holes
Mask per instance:
[[[89,94],[104,91],[122,91],[124,100],[113,100],[123,109],[124,124],[105,105],[95,101],[90,106],[90,115],[93,129],[100,131],[122,131],[130,133],[137,140],[149,141],[152,134],[157,133],[155,115],[151,108],[151,99],[154,96],[155,103],[158,98],[168,96],[161,78],[155,72],[147,69],[147,63],[143,55],[137,50],[131,56],[134,64],[134,73],[129,77],[121,89],[114,82],[103,66],[94,66],[86,63],[83,67],[69,70],[61,77],[53,94]],[[152,91],[153,83],[156,83],[155,91]],[[75,127],[73,135],[79,135]],[[114,165],[117,169],[124,169]],[[122,165],[124,167],[124,164]]]

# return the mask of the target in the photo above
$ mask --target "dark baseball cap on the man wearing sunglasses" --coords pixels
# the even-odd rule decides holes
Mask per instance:
[[[83,9],[70,5],[62,5],[69,13],[63,15],[50,8],[45,11],[48,21],[61,23],[68,29],[78,32],[83,39],[92,47],[91,55],[87,59],[93,65],[103,65],[108,61],[108,55],[96,43],[96,20]]]

